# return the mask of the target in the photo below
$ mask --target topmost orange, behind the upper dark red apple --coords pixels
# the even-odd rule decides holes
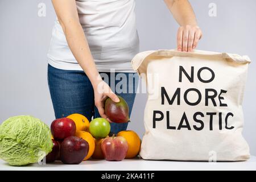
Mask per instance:
[[[76,131],[89,131],[89,120],[82,114],[71,114],[67,118],[72,119],[76,123]]]

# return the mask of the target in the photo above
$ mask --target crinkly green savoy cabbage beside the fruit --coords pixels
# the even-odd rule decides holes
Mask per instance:
[[[30,115],[11,117],[0,126],[0,158],[12,166],[36,163],[52,146],[49,127]]]

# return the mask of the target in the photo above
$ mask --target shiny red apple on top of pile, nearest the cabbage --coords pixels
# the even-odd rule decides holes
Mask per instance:
[[[52,136],[55,140],[63,140],[76,133],[76,124],[72,119],[55,119],[51,124]]]

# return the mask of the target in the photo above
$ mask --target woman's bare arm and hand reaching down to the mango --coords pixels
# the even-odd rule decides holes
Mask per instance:
[[[97,106],[101,117],[106,118],[104,112],[105,98],[110,97],[115,102],[118,102],[119,98],[112,92],[109,86],[102,81],[100,74],[96,69],[84,30],[82,30],[82,26],[79,22],[76,1],[52,0],[52,4],[61,27],[63,28],[69,48],[88,76],[90,82],[92,82],[95,105]]]

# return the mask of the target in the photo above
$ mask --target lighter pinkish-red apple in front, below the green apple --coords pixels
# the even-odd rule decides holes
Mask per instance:
[[[101,150],[106,160],[121,161],[127,154],[128,143],[124,137],[107,137],[101,143]]]

